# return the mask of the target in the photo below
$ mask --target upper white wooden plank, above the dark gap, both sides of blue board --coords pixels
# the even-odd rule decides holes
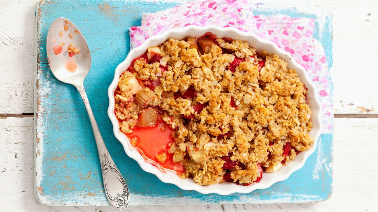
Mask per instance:
[[[0,114],[33,113],[34,17],[38,0],[0,3]],[[274,3],[274,0],[265,0]],[[362,0],[290,0],[288,5],[317,5],[333,14],[335,114],[378,114],[373,91],[378,68],[368,61],[378,57],[378,3]],[[353,15],[352,15],[353,14]],[[352,51],[353,49],[353,51]],[[354,55],[363,54],[363,59]],[[8,59],[9,58],[9,59]],[[350,58],[355,58],[350,63]],[[366,76],[366,74],[368,74]]]

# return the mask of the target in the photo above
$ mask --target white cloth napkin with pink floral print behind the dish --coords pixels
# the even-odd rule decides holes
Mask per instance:
[[[322,133],[332,133],[332,82],[324,48],[312,36],[314,19],[291,18],[282,14],[255,16],[248,0],[193,1],[164,11],[143,13],[141,26],[130,28],[130,49],[141,45],[150,36],[188,25],[217,25],[253,32],[289,52],[306,69],[318,88],[322,104]]]

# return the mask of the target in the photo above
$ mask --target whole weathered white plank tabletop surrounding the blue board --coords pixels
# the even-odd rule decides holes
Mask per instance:
[[[116,211],[48,207],[34,198],[34,24],[38,0],[0,0],[0,211]],[[273,3],[274,0],[265,0]],[[306,204],[129,207],[130,211],[378,211],[378,2],[290,0],[333,14],[333,194]]]

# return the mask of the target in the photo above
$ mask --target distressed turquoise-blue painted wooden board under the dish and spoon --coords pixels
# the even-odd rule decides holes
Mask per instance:
[[[162,183],[144,172],[127,157],[112,132],[107,116],[107,89],[116,66],[129,52],[128,29],[140,24],[142,12],[163,6],[139,2],[89,0],[51,0],[37,8],[36,39],[36,197],[47,205],[109,205],[103,189],[98,154],[90,122],[82,100],[73,86],[61,83],[51,73],[46,58],[46,35],[57,17],[66,17],[85,35],[92,55],[92,66],[84,81],[88,97],[105,143],[131,192],[130,205],[151,204],[245,204],[302,203],[321,201],[332,192],[332,134],[322,134],[317,150],[305,166],[285,181],[249,194],[204,195]],[[279,12],[316,20],[314,37],[326,49],[332,65],[332,17],[298,12],[294,8]],[[272,15],[267,6],[254,8],[254,14]],[[320,20],[323,20],[322,22]],[[325,21],[324,21],[325,20]],[[320,29],[328,29],[320,31]]]

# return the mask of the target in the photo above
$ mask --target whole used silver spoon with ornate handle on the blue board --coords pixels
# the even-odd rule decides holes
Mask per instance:
[[[72,48],[69,48],[70,45]],[[76,52],[77,54],[70,57],[68,49],[71,49],[72,53],[79,50],[79,53]],[[59,52],[60,50],[61,52]],[[110,204],[120,210],[125,210],[129,204],[129,188],[117,166],[114,164],[112,157],[110,157],[104,140],[102,140],[95,116],[84,90],[84,78],[91,68],[91,54],[87,41],[85,41],[80,30],[67,18],[57,18],[51,24],[47,34],[46,52],[48,63],[54,76],[62,82],[72,84],[79,91],[91,121],[93,134],[95,134],[97,150],[101,160],[105,195]]]

